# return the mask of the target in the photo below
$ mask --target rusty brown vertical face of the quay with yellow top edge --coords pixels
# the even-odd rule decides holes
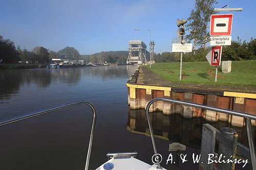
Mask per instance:
[[[172,89],[172,87],[141,85],[135,83],[126,83],[126,86],[128,88],[128,104],[131,109],[145,109],[148,102],[154,98],[169,98],[256,115],[256,94],[254,93],[223,91],[218,94],[210,94],[210,92],[209,94],[205,94],[199,93],[198,90],[190,90],[189,92],[183,90],[184,92],[181,92],[182,90],[175,90],[175,88]],[[167,102],[155,102],[150,107],[150,111],[152,112],[155,110],[160,110],[165,115],[181,114],[185,118],[203,117],[210,122],[222,120],[233,126],[245,126],[245,120],[242,117],[190,106],[181,106]],[[252,120],[252,125],[256,126],[255,120]]]

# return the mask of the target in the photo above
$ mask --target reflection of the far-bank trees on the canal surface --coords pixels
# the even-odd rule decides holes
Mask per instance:
[[[74,86],[81,83],[82,77],[119,79],[132,75],[136,66],[114,65],[97,67],[72,67],[61,69],[21,69],[0,71],[0,101],[6,103],[12,95],[19,93],[22,86],[36,85],[37,88],[47,89],[51,84]],[[85,80],[86,82],[87,80]],[[0,103],[0,104],[1,104]]]

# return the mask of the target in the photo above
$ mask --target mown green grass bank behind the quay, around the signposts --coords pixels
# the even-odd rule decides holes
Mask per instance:
[[[145,66],[149,68],[149,65]],[[156,63],[151,70],[170,82],[180,82],[180,63]],[[214,84],[227,86],[256,87],[256,60],[232,61],[231,72],[223,74],[218,68],[218,80],[215,83],[215,67],[208,62],[183,62],[182,80],[184,83]]]

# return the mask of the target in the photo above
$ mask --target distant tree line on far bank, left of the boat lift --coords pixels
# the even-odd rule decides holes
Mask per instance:
[[[10,39],[4,39],[0,35],[0,63],[18,63],[18,61],[47,64],[53,58],[69,60],[85,60],[91,63],[126,63],[128,57],[127,51],[100,52],[92,55],[80,55],[74,47],[67,46],[58,52],[48,50],[44,46],[36,46],[29,51],[23,50],[20,46],[17,48]]]

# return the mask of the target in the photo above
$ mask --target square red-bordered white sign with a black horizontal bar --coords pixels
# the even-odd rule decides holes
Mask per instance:
[[[231,35],[233,14],[214,14],[210,16],[210,35]]]

